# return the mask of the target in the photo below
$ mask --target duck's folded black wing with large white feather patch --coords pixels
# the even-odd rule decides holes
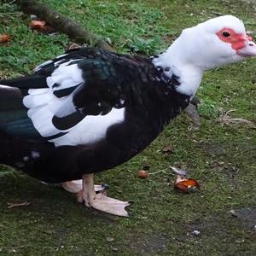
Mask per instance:
[[[41,137],[56,145],[93,143],[124,120],[127,104],[135,97],[139,102],[141,78],[135,83],[134,76],[141,63],[100,49],[79,49],[43,63],[31,76],[0,84],[20,90],[30,124]]]

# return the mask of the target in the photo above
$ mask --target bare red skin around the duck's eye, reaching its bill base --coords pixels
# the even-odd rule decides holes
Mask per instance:
[[[253,41],[253,38],[244,34],[238,34],[233,29],[225,27],[217,33],[217,36],[220,40],[230,43],[236,51],[246,47],[247,41]]]

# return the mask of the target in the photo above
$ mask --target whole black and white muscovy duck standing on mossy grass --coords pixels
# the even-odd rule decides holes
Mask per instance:
[[[94,173],[154,141],[188,106],[205,70],[249,55],[256,44],[231,15],[184,29],[151,58],[69,50],[32,75],[0,81],[0,163],[62,183],[87,207],[128,216],[128,202],[96,194]]]

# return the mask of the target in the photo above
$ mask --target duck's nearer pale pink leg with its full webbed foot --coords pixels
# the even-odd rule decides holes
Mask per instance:
[[[78,201],[84,201],[86,207],[93,207],[102,212],[128,217],[128,212],[125,211],[125,207],[130,206],[128,201],[119,201],[104,195],[104,193],[96,194],[93,173],[83,175],[83,189],[78,194]]]

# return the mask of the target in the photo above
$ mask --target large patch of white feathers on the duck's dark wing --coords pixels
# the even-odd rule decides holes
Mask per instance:
[[[54,116],[65,117],[77,111],[73,105],[73,96],[79,86],[85,83],[82,70],[72,60],[62,63],[46,79],[49,88],[30,89],[23,103],[29,108],[27,114],[42,137],[48,138],[55,146],[81,145],[95,143],[106,136],[108,127],[125,119],[125,108],[113,108],[106,115],[86,116],[77,125],[67,130],[59,130],[53,125]],[[43,63],[43,66],[46,65]],[[41,65],[41,67],[43,67]],[[40,66],[39,66],[40,67]],[[40,68],[41,68],[40,67]],[[79,85],[80,84],[80,85]],[[57,97],[54,93],[58,90],[72,88],[79,85],[67,96]],[[58,137],[58,135],[60,135]]]

